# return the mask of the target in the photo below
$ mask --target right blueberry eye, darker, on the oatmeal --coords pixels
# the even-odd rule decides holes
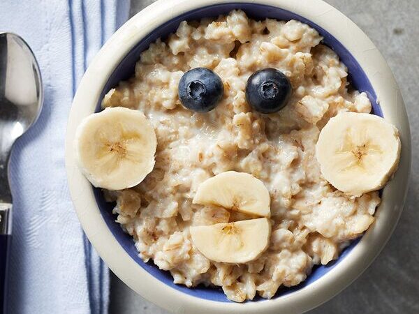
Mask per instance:
[[[288,103],[291,90],[291,82],[284,73],[275,68],[264,68],[247,80],[246,99],[258,112],[278,112]]]

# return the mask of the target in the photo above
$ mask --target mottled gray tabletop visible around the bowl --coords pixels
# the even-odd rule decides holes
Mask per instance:
[[[387,246],[351,286],[311,311],[419,313],[419,0],[327,0],[377,45],[395,73],[411,125],[413,165],[406,206]],[[153,0],[131,0],[134,15]],[[111,275],[110,313],[168,313]]]

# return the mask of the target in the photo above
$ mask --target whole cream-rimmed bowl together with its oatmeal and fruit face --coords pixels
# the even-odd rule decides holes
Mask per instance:
[[[175,313],[333,297],[390,237],[410,154],[390,68],[321,0],[156,1],[91,61],[66,135],[89,241]]]

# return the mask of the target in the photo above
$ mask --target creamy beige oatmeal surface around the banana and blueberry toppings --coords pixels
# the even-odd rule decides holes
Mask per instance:
[[[117,201],[117,222],[142,260],[170,271],[175,283],[220,286],[233,301],[256,294],[269,299],[279,287],[304,281],[314,264],[336,259],[373,223],[378,193],[341,193],[323,179],[315,157],[331,117],[372,110],[321,40],[301,22],[256,22],[241,10],[182,22],[142,52],[135,77],[109,91],[103,107],[141,110],[157,138],[156,164],[145,180],[105,192]],[[186,110],[177,96],[180,78],[196,67],[214,70],[224,87],[221,103],[204,114]],[[280,112],[260,114],[246,101],[247,79],[262,68],[277,68],[291,80],[291,100]],[[203,181],[229,170],[252,174],[270,193],[269,246],[244,264],[208,260],[189,232],[191,226],[254,218],[192,203]]]

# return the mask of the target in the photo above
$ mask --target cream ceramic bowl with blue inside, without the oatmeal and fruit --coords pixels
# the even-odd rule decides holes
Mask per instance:
[[[314,27],[324,43],[348,67],[353,86],[365,91],[374,114],[397,126],[402,156],[394,178],[382,190],[382,202],[372,227],[348,246],[339,259],[315,267],[306,281],[281,289],[271,300],[255,299],[244,304],[228,301],[221,289],[187,288],[172,283],[172,276],[152,262],[142,262],[132,238],[115,223],[112,204],[93,188],[75,163],[75,129],[87,115],[100,110],[105,93],[134,72],[140,52],[159,37],[175,31],[182,20],[216,17],[233,9],[249,17],[300,20]],[[395,78],[376,49],[351,20],[321,0],[160,0],[128,20],[98,52],[87,69],[68,120],[66,169],[71,196],[84,232],[110,269],[149,301],[175,313],[302,313],[327,301],[343,290],[378,255],[402,213],[411,164],[411,141],[406,110]]]

